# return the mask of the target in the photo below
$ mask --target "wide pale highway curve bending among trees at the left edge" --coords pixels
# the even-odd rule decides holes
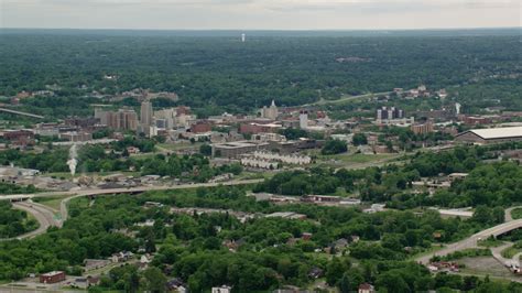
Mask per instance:
[[[28,202],[14,203],[13,207],[25,210],[26,213],[33,215],[34,218],[39,221],[40,227],[34,231],[30,231],[18,237],[1,239],[1,240],[33,238],[35,236],[39,236],[47,231],[48,227],[52,227],[52,226],[62,227],[62,223],[55,218],[55,213],[54,213],[55,210],[53,210],[50,207],[46,207],[36,203],[28,203]]]

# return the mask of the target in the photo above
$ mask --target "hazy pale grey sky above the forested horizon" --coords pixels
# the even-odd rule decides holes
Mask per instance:
[[[0,0],[2,28],[360,30],[522,26],[522,0]]]

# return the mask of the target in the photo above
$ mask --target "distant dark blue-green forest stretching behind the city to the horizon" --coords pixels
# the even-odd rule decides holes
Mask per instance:
[[[432,89],[478,83],[458,89],[459,96],[508,99],[505,105],[519,107],[520,91],[509,86],[520,85],[519,46],[515,33],[336,37],[283,33],[246,43],[230,36],[99,31],[9,33],[0,39],[0,95],[45,89],[45,85],[57,85],[61,97],[141,87],[175,91],[181,104],[208,115],[251,109],[271,99],[289,106],[421,83]],[[108,80],[105,75],[118,78]],[[481,88],[482,82],[488,86]],[[45,113],[41,104],[26,106]]]

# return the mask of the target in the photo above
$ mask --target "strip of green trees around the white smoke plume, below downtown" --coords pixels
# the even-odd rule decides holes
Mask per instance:
[[[150,140],[131,143],[142,150],[153,150]],[[151,154],[150,156],[129,156],[126,140],[109,145],[83,145],[78,150],[78,172],[127,172],[141,175],[161,175],[207,182],[216,175],[232,173],[238,175],[242,167],[238,163],[211,166],[203,154],[176,155]],[[19,150],[0,152],[0,165],[14,164],[19,167],[36,169],[45,173],[68,172],[68,149],[56,148],[42,153],[25,153]]]

